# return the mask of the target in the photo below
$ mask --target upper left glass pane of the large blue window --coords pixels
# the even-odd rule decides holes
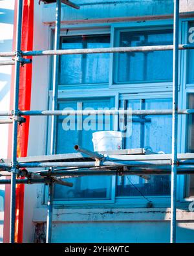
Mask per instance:
[[[110,46],[110,36],[71,36],[61,38],[61,49],[89,49]],[[60,84],[102,84],[109,82],[109,53],[60,56]]]

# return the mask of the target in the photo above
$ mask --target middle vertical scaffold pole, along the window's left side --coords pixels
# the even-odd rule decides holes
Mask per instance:
[[[54,36],[54,50],[59,49],[60,43],[60,29],[61,29],[61,0],[56,1],[56,25]],[[52,82],[52,110],[57,110],[58,103],[58,63],[59,56],[54,55],[53,63],[53,82]],[[56,116],[52,115],[51,118],[51,138],[50,138],[50,154],[56,152]],[[46,242],[51,242],[52,236],[52,201],[54,185],[50,183],[48,188],[48,205],[47,205],[47,238]]]

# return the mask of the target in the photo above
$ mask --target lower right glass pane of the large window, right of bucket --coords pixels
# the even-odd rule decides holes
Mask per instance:
[[[120,102],[122,105],[122,102]],[[171,99],[127,100],[132,110],[171,109]],[[133,117],[132,135],[125,139],[125,148],[145,148],[153,152],[171,152],[171,116],[147,115]],[[117,196],[162,196],[170,194],[170,179],[167,175],[150,176],[149,180],[139,176],[117,178]]]

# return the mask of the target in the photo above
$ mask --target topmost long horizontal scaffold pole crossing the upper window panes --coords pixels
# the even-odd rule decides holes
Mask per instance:
[[[179,50],[194,49],[194,44],[178,45]],[[92,54],[92,53],[114,53],[114,52],[149,52],[149,51],[172,51],[173,45],[151,45],[136,47],[109,47],[92,49],[68,49],[68,50],[40,50],[40,51],[21,51],[22,56],[41,56],[41,55],[65,55],[65,54]],[[0,52],[0,57],[13,57],[16,52]]]

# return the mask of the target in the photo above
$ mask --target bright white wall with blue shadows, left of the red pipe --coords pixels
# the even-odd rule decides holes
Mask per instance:
[[[0,51],[12,51],[14,29],[14,0],[0,1]],[[1,58],[6,60],[6,58]],[[12,67],[0,66],[0,110],[10,109],[10,81]],[[8,124],[0,126],[0,159],[7,157]],[[5,185],[0,185],[0,242],[3,241],[3,211]]]

